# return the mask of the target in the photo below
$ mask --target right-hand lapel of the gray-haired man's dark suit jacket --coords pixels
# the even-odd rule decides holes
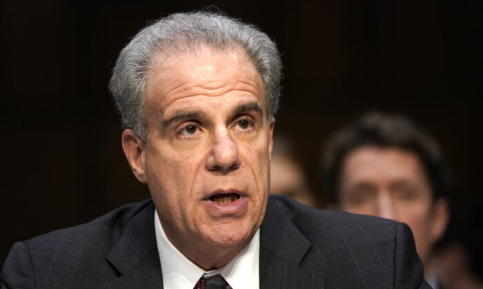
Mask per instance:
[[[303,263],[311,247],[288,211],[269,201],[260,228],[260,288],[324,288],[326,276]]]

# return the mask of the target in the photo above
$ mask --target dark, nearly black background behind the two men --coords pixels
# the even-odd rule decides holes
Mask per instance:
[[[321,142],[375,109],[424,127],[453,197],[482,201],[482,2],[318,2],[0,1],[0,264],[16,241],[148,197],[121,149],[110,69],[148,20],[210,4],[277,42],[275,131],[297,140],[322,202]]]

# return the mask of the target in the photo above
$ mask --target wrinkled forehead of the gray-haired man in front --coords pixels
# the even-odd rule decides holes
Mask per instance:
[[[199,46],[188,52],[160,54],[148,73],[148,102],[166,107],[190,96],[221,96],[230,91],[264,100],[264,86],[253,61],[242,47],[213,50]],[[260,104],[264,104],[261,101]]]

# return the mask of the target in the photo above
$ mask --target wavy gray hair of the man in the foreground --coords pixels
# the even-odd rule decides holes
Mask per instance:
[[[254,25],[213,12],[170,14],[142,29],[121,50],[109,88],[124,129],[148,138],[144,103],[148,72],[160,54],[195,51],[200,45],[226,50],[241,46],[257,68],[266,95],[268,122],[279,103],[282,61],[277,46]]]

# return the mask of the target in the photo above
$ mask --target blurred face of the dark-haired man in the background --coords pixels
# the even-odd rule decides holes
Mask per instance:
[[[408,224],[417,252],[425,261],[444,230],[446,215],[441,216],[442,210],[435,208],[430,184],[415,153],[371,146],[355,149],[343,162],[339,185],[344,211]]]

